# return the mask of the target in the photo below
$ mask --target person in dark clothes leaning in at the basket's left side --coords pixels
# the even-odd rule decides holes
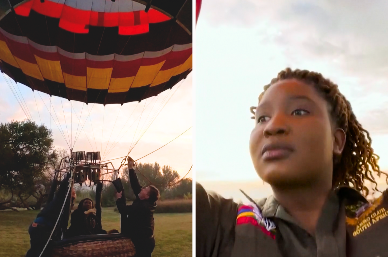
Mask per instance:
[[[68,175],[62,180],[54,199],[47,204],[41,212],[39,212],[36,219],[29,226],[28,233],[31,238],[31,246],[26,254],[26,257],[38,257],[45,247],[47,240],[49,240],[50,234],[54,229],[55,223],[57,222],[58,216],[61,212],[66,193],[68,192],[69,186],[71,186],[72,179],[70,177],[71,175],[68,173]],[[72,204],[75,198],[76,195],[73,190],[71,193]],[[49,243],[42,254],[42,257],[47,256],[50,253],[51,247],[52,245]]]

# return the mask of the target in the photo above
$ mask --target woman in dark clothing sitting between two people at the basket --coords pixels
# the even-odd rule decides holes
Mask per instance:
[[[96,209],[93,200],[89,198],[80,201],[78,209],[71,214],[70,223],[71,226],[66,233],[66,237],[107,233],[102,229],[101,224],[97,222]]]

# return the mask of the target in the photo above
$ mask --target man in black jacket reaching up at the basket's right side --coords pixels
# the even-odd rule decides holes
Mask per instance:
[[[132,205],[126,205],[121,191],[116,194],[116,204],[121,220],[125,221],[125,226],[121,226],[121,233],[131,237],[137,256],[149,257],[155,248],[154,211],[160,193],[158,188],[152,185],[145,188],[140,185],[134,166],[133,159],[128,158],[129,179],[136,199]]]

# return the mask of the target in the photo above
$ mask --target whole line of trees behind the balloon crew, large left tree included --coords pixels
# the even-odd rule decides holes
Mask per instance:
[[[61,159],[69,155],[65,149],[54,149],[53,144],[52,131],[45,125],[31,121],[0,124],[0,210],[14,207],[40,209],[44,206],[55,169],[59,168]],[[180,180],[177,171],[170,166],[138,163],[136,173],[142,185],[156,185],[162,199],[183,199],[192,194],[192,180]],[[126,168],[120,174],[126,198],[133,200],[135,195],[130,190]],[[85,194],[95,197],[94,187],[86,190],[83,187],[85,184],[77,187],[80,197]],[[114,193],[113,184],[104,182],[102,206],[114,206]]]

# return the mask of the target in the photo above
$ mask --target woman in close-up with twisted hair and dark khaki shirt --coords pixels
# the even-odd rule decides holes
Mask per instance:
[[[388,256],[388,195],[365,199],[383,172],[338,86],[287,68],[254,109],[249,150],[273,195],[239,205],[197,183],[196,255]]]

